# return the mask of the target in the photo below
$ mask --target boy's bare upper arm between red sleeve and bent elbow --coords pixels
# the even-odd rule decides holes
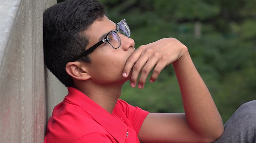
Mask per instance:
[[[184,113],[149,113],[138,136],[142,143],[207,142],[190,130]]]

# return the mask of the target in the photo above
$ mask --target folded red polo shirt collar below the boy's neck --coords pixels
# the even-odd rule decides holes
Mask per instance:
[[[124,122],[117,119],[91,98],[74,87],[68,87],[69,94],[65,99],[83,108],[96,122],[105,127],[110,135],[118,142],[125,142],[127,127]]]

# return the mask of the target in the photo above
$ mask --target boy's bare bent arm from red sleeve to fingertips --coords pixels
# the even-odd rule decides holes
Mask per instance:
[[[157,80],[166,65],[173,64],[179,81],[184,114],[149,113],[140,138],[151,142],[213,142],[223,133],[223,124],[214,101],[198,74],[187,50],[175,38],[163,38],[140,46],[127,59],[123,77],[130,75],[131,86],[143,88],[149,72]],[[139,77],[140,75],[140,77]]]

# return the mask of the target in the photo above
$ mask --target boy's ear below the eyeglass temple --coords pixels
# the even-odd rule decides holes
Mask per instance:
[[[88,80],[91,76],[84,62],[68,62],[66,72],[76,80]]]

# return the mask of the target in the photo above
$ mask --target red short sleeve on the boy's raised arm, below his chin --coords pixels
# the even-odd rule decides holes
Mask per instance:
[[[149,112],[142,110],[139,107],[134,107],[123,101],[122,99],[118,99],[116,105],[123,110],[124,114],[130,121],[136,134],[138,135],[141,129],[141,125]]]

